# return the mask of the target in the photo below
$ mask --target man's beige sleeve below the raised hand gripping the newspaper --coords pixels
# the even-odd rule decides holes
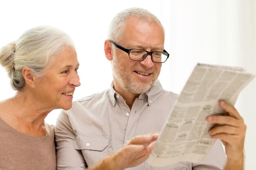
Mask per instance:
[[[222,170],[226,159],[222,143],[217,139],[203,161],[192,163],[192,170]]]

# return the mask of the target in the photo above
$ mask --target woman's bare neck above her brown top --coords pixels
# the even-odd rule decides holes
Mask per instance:
[[[32,136],[45,136],[45,117],[50,111],[36,106],[33,97],[17,93],[0,102],[0,117],[12,128]]]

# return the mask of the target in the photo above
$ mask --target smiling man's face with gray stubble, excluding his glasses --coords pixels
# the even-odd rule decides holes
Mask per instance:
[[[117,43],[124,48],[146,51],[164,50],[164,31],[159,23],[130,17],[124,38]],[[148,55],[143,61],[132,61],[126,52],[116,48],[113,52],[112,71],[117,92],[141,94],[150,89],[159,76],[162,63],[154,63]]]

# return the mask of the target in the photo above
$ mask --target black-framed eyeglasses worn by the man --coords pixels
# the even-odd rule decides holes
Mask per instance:
[[[146,59],[146,57],[148,55],[150,55],[151,60],[153,62],[164,63],[170,55],[170,54],[168,54],[168,52],[166,50],[164,50],[164,52],[160,52],[160,51],[149,52],[149,51],[140,50],[140,49],[126,49],[126,48],[120,46],[119,44],[115,43],[114,41],[111,41],[111,40],[109,40],[109,41],[112,42],[120,50],[127,52],[129,58],[134,61],[142,61],[142,60]]]

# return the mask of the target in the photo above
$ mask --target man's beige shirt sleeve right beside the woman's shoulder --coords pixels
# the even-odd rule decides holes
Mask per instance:
[[[81,150],[74,148],[76,135],[72,129],[70,119],[61,111],[55,126],[57,170],[84,170],[86,167],[85,159]]]

